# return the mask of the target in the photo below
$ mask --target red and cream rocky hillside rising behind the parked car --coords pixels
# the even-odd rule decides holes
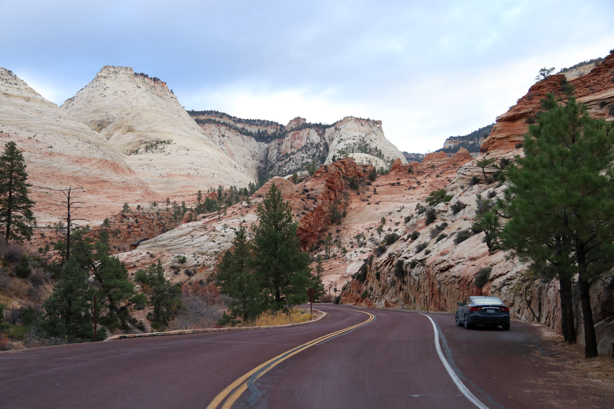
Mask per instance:
[[[588,74],[569,80],[578,99],[588,104],[589,112],[595,117],[614,120],[613,76],[614,54],[610,54]],[[392,183],[388,189],[397,189],[395,194],[409,195],[411,204],[406,209],[411,216],[399,228],[397,233],[401,237],[398,241],[379,251],[375,243],[364,249],[361,274],[343,282],[342,302],[453,312],[456,302],[469,295],[494,295],[510,305],[510,313],[515,319],[537,321],[559,329],[558,281],[534,280],[527,274],[527,265],[508,259],[505,252],[489,252],[483,237],[473,235],[470,227],[480,202],[501,197],[505,189],[504,185],[489,184],[476,162],[484,157],[501,160],[523,154],[523,135],[527,133],[529,124],[535,122],[540,98],[546,92],[561,93],[566,82],[565,76],[559,74],[530,87],[527,95],[498,117],[481,146],[480,156],[473,160],[468,158],[460,168],[454,168],[454,163],[459,164],[460,160],[446,158],[443,152],[427,155],[421,164],[411,163],[418,181],[410,178],[408,182],[413,182],[412,187],[421,182],[419,186],[423,190],[405,192],[395,188],[395,179],[405,179],[408,173],[408,168],[400,163],[395,164],[391,173],[378,177],[376,184],[385,186]],[[487,176],[495,170],[487,169]],[[435,183],[433,173],[440,175]],[[472,182],[474,177],[478,183]],[[429,212],[424,209],[416,211],[416,205],[421,202],[424,206],[427,193],[441,187],[445,187],[453,199],[449,204],[435,206],[430,211],[431,219],[427,220]],[[383,189],[378,188],[378,192],[383,193]],[[456,203],[459,204],[451,206]],[[459,236],[461,232],[467,233]],[[459,240],[459,237],[464,240]],[[473,283],[480,270],[486,275],[486,284],[476,287]],[[591,294],[599,353],[611,356],[614,338],[612,276],[596,281]],[[578,301],[579,297],[574,300]],[[581,307],[574,305],[574,309],[578,341],[583,343]]]

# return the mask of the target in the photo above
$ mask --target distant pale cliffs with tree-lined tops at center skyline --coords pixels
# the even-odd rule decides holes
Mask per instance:
[[[297,117],[287,125],[266,120],[239,119],[217,111],[188,111],[205,133],[250,174],[285,176],[319,166],[334,158],[387,168],[405,157],[391,144],[381,121],[356,117],[325,125]]]

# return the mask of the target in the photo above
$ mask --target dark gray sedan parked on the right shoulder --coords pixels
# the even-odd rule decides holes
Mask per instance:
[[[497,297],[467,297],[462,303],[457,303],[456,325],[465,325],[471,329],[473,325],[501,325],[504,330],[510,329],[510,308]]]

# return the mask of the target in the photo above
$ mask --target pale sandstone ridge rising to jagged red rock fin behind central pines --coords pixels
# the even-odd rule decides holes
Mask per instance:
[[[173,282],[211,278],[219,257],[232,245],[235,229],[241,224],[249,227],[257,222],[257,206],[273,184],[281,190],[284,200],[292,206],[301,244],[305,249],[309,249],[332,224],[332,206],[339,206],[341,211],[345,210],[340,198],[343,195],[350,196],[348,178],[365,179],[371,169],[371,165],[357,165],[351,159],[344,159],[321,166],[313,176],[306,177],[297,184],[283,177],[273,177],[252,195],[251,206],[248,207],[246,202],[237,203],[220,216],[200,215],[200,220],[179,225],[173,230],[144,240],[136,249],[118,256],[130,271],[146,267],[160,259],[166,277]],[[249,235],[251,233],[248,230]],[[185,257],[186,262],[177,265],[177,255]]]

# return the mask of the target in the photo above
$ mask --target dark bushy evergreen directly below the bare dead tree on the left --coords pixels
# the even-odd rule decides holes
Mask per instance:
[[[50,337],[72,341],[94,338],[92,300],[94,289],[88,284],[88,272],[72,258],[66,262],[53,294],[43,303],[42,329]]]

